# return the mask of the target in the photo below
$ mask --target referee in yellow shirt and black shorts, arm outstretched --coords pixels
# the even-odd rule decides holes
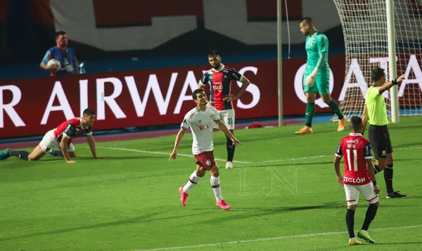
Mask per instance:
[[[385,73],[382,68],[375,68],[371,72],[372,84],[365,96],[364,123],[362,135],[369,120],[369,141],[373,149],[373,156],[376,158],[375,172],[384,170],[384,180],[387,189],[387,198],[402,198],[406,195],[392,189],[392,146],[390,134],[388,133],[387,110],[383,93],[402,82],[404,75],[392,81],[385,81]]]

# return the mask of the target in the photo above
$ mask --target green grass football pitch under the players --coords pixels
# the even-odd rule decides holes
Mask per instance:
[[[422,248],[421,122],[421,116],[402,117],[389,126],[394,187],[408,196],[386,199],[383,174],[376,176],[380,208],[369,229],[376,244],[362,245],[364,250]],[[231,170],[224,169],[224,133],[215,133],[229,211],[215,205],[209,173],[181,205],[178,188],[196,162],[190,133],[175,161],[168,161],[175,135],[97,142],[99,160],[87,144],[77,144],[74,164],[53,156],[0,161],[0,250],[356,248],[347,243],[345,195],[333,168],[335,149],[349,130],[320,123],[312,135],[295,135],[298,128],[236,130],[243,145],[236,147]],[[361,196],[355,232],[367,205]]]

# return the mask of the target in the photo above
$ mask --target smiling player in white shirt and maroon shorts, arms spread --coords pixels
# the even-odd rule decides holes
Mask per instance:
[[[176,159],[177,149],[183,140],[186,130],[190,127],[193,135],[192,153],[195,156],[196,170],[193,171],[191,177],[185,186],[180,186],[180,201],[181,205],[186,206],[186,198],[188,198],[188,191],[195,186],[200,178],[204,177],[205,171],[210,171],[211,175],[211,186],[215,194],[216,205],[222,210],[229,210],[231,207],[224,201],[222,197],[222,191],[219,182],[219,168],[214,160],[213,151],[213,132],[212,123],[215,122],[219,128],[231,139],[234,145],[241,144],[233,134],[230,133],[229,129],[220,120],[217,110],[207,104],[207,96],[203,89],[198,89],[192,93],[193,101],[196,103],[196,107],[191,109],[185,116],[184,120],[180,125],[179,133],[177,133],[176,140],[174,142],[174,149],[170,154],[170,159]]]

